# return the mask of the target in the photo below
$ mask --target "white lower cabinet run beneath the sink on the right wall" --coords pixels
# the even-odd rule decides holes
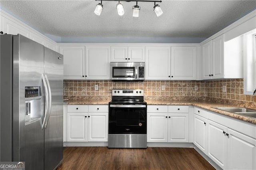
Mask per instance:
[[[256,169],[255,131],[254,125],[194,109],[194,144],[222,169]]]

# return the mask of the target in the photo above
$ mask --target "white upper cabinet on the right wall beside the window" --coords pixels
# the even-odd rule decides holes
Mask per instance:
[[[224,34],[202,45],[202,79],[242,78],[242,37],[224,42]]]

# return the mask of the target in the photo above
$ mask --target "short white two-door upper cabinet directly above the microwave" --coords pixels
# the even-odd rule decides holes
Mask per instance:
[[[145,62],[145,47],[111,46],[111,62]]]

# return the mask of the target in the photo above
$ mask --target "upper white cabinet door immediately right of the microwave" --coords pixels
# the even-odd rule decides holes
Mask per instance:
[[[146,47],[146,80],[170,80],[170,47]]]

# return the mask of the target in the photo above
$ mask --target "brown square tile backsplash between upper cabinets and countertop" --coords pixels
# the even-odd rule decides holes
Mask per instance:
[[[145,99],[256,102],[256,96],[243,94],[243,83],[243,79],[143,82],[64,80],[64,98],[111,99],[112,89],[144,89]],[[98,85],[98,90],[95,90],[95,85]],[[223,92],[223,86],[226,86],[226,92]]]

